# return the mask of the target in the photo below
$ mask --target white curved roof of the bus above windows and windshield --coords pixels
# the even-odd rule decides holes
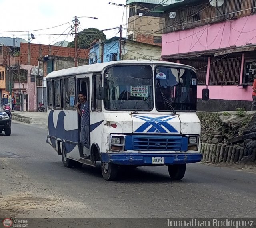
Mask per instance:
[[[68,76],[68,75],[79,75],[84,73],[93,73],[103,71],[106,67],[110,67],[112,65],[126,65],[126,64],[164,64],[169,65],[170,67],[186,67],[191,69],[192,71],[196,72],[194,67],[180,64],[180,63],[173,63],[173,62],[166,62],[166,61],[154,61],[154,60],[122,60],[122,61],[111,61],[106,63],[95,63],[90,65],[83,65],[79,67],[71,67],[63,70],[52,71],[49,73],[46,78],[54,78],[54,77],[61,77],[61,76]]]

